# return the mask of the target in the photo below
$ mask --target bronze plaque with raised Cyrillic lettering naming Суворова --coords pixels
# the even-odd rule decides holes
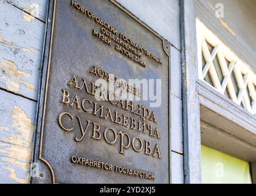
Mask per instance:
[[[49,1],[31,183],[170,183],[169,54],[116,1]]]

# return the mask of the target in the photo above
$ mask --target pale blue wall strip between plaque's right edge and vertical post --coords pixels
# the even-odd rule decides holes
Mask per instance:
[[[177,50],[180,49],[179,1],[118,2],[175,46],[171,48],[172,151],[180,154],[172,152],[172,183],[183,183],[182,70]]]

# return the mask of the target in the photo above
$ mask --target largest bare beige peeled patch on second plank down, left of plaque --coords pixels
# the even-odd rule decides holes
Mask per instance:
[[[21,79],[22,77],[30,77],[30,74],[18,69],[13,61],[4,59],[0,62],[0,69],[5,73],[1,77],[6,81],[8,90],[14,92],[20,91],[21,85],[24,84],[26,90],[35,91],[34,85]]]

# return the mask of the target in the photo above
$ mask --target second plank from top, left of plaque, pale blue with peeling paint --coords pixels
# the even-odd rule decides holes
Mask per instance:
[[[38,99],[44,26],[0,0],[0,88]]]

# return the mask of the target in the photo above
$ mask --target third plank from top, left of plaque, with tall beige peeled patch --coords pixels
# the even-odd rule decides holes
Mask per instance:
[[[0,141],[33,148],[36,102],[0,90]]]

